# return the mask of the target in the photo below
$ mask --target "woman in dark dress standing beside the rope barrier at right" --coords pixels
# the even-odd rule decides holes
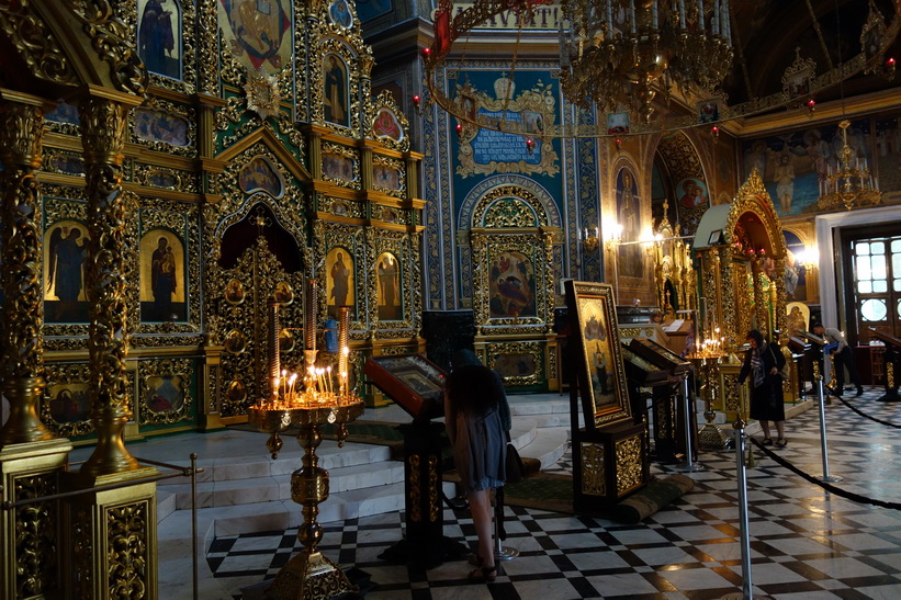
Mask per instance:
[[[756,329],[747,332],[747,343],[751,348],[745,352],[737,385],[751,376],[751,418],[761,421],[764,445],[773,445],[769,434],[769,421],[773,421],[778,437],[776,445],[785,448],[788,441],[785,433],[786,410],[781,398],[782,377],[779,371],[785,366],[786,359]]]

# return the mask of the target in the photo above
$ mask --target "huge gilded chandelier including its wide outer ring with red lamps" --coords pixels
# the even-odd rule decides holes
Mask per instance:
[[[442,82],[442,70],[451,55],[465,57],[465,45],[454,48],[461,36],[466,41],[496,34],[486,23],[502,13],[519,23],[513,56],[505,78],[515,84],[522,23],[534,23],[537,10],[551,0],[438,0],[433,13],[435,39],[423,49],[427,103],[438,104],[457,118],[458,134],[475,128],[521,135],[527,146],[536,135],[522,118],[504,110],[473,110],[466,102],[468,86],[458,86],[457,93]],[[650,133],[676,132],[698,125],[774,111],[780,107],[806,107],[812,112],[814,97],[859,72],[879,73],[891,79],[894,59],[886,53],[901,31],[901,1],[892,2],[890,22],[869,2],[869,16],[861,31],[861,52],[847,61],[830,65],[816,72],[812,61],[802,61],[807,71],[793,72],[789,67],[781,90],[768,95],[752,97],[730,104],[724,91],[718,89],[733,66],[733,14],[729,0],[560,0],[563,14],[560,36],[560,86],[571,104],[593,109],[607,118],[574,118],[556,123],[544,122],[539,137],[586,138]],[[457,3],[455,3],[457,2]],[[812,5],[808,2],[814,30],[820,32]],[[540,27],[538,29],[540,30]],[[537,30],[537,31],[538,31]],[[550,32],[548,32],[550,33]],[[825,44],[821,37],[821,44]],[[734,36],[737,47],[737,34]],[[866,43],[865,43],[866,41]],[[737,52],[737,50],[736,50]],[[744,65],[741,53],[735,60]],[[796,60],[798,63],[798,60]],[[791,72],[789,72],[791,71]],[[803,77],[802,77],[803,76]],[[797,81],[796,81],[797,80]],[[802,86],[800,84],[802,83]],[[674,93],[676,92],[676,93]],[[675,110],[654,112],[657,95],[668,101],[676,98]],[[502,94],[503,99],[508,97]],[[510,99],[511,100],[511,99]],[[417,111],[421,100],[414,99]],[[505,100],[506,101],[506,100]],[[695,110],[691,110],[691,104]],[[635,118],[630,118],[635,116]],[[716,131],[716,127],[714,127]],[[531,141],[533,143],[533,140]]]

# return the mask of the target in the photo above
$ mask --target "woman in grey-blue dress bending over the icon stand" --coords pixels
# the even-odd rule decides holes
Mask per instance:
[[[497,577],[491,490],[502,487],[507,478],[509,426],[509,406],[500,377],[482,365],[472,350],[458,352],[444,386],[444,427],[478,536],[477,567],[470,573],[470,579],[494,581]]]

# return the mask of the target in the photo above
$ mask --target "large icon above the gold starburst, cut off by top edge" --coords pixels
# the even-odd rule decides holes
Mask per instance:
[[[291,63],[286,0],[219,0],[219,27],[232,54],[255,71],[273,73]]]

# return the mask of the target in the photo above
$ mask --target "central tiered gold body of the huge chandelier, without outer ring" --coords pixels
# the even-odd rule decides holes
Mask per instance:
[[[688,5],[686,5],[688,4]],[[574,104],[651,120],[668,95],[712,95],[732,67],[729,0],[564,0],[560,79]]]

